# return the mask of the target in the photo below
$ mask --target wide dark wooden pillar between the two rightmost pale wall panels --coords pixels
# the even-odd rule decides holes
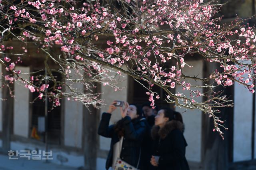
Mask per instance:
[[[210,73],[210,68],[218,68],[218,66],[210,66],[212,63],[204,63],[204,73]],[[207,76],[207,75],[205,75]],[[230,100],[233,99],[233,86],[226,88],[218,88],[216,90],[224,90]],[[205,99],[204,99],[205,100]],[[213,132],[214,124],[209,115],[202,115],[202,164],[204,170],[228,170],[229,162],[232,161],[233,150],[233,108],[220,108],[218,116],[221,120],[225,120],[224,140],[219,136],[218,132]]]

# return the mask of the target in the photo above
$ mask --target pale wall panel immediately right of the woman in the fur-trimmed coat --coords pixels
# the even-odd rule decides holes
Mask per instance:
[[[187,76],[198,75],[199,78],[202,78],[203,73],[203,61],[188,61],[188,65],[193,66],[189,68],[184,66],[183,73]],[[186,83],[188,81],[186,80]],[[194,80],[189,80],[190,84],[202,85],[202,82],[195,82]],[[193,88],[191,88],[193,89]],[[200,90],[200,89],[199,89]],[[202,89],[200,90],[202,91]],[[189,96],[188,90],[182,90],[181,87],[176,88],[176,93],[180,92]],[[197,102],[201,102],[202,98],[198,97],[195,99]],[[202,133],[202,112],[198,109],[195,110],[185,110],[177,107],[176,111],[182,113],[183,122],[185,124],[184,137],[188,143],[186,147],[186,158],[189,161],[200,162],[201,161],[201,133]],[[186,112],[185,112],[186,111]]]

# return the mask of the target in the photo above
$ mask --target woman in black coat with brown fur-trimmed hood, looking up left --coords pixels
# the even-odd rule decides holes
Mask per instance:
[[[162,108],[155,117],[152,128],[154,140],[153,155],[150,160],[154,170],[189,170],[185,158],[187,146],[183,136],[182,116],[170,108]]]

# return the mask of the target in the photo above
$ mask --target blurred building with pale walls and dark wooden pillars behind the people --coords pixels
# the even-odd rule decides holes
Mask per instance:
[[[224,2],[226,1],[219,1],[219,3]],[[224,16],[223,23],[234,20],[236,14],[242,18],[254,15],[255,0],[232,0],[224,5],[220,12],[220,15]],[[254,25],[255,19],[249,19],[248,22]],[[8,43],[19,45],[15,42]],[[30,55],[33,60],[25,60],[16,68],[17,70],[34,72],[41,69],[42,61],[38,59],[40,56]],[[189,76],[205,77],[217,67],[213,63],[204,62],[200,56],[186,60],[188,65],[194,66],[193,68],[184,67],[185,74]],[[171,63],[167,64],[171,65]],[[0,72],[2,71],[4,67],[0,68]],[[58,73],[55,76],[58,76]],[[60,76],[59,78],[62,79]],[[15,98],[10,97],[8,87],[5,86],[0,90],[0,97],[7,99],[0,101],[0,153],[7,155],[8,150],[46,150],[44,127],[40,125],[43,122],[38,123],[38,119],[44,120],[45,109],[50,110],[51,106],[46,106],[45,102],[39,100],[34,101],[38,96],[36,92],[30,93],[28,89],[16,83],[12,86]],[[96,92],[102,92],[101,98],[107,105],[113,100],[138,104],[148,101],[146,90],[132,78],[125,76],[120,86],[126,88],[114,92],[106,86],[98,86]],[[155,90],[160,94],[160,99],[156,100],[158,107],[173,107],[164,102],[163,90],[159,88]],[[192,170],[255,168],[255,93],[248,92],[246,88],[236,83],[232,87],[220,90],[224,90],[224,93],[234,100],[234,108],[224,108],[220,114],[222,120],[226,120],[225,126],[229,129],[224,130],[224,140],[217,132],[212,132],[214,126],[208,115],[199,110],[174,108],[182,113],[184,119],[184,136],[188,143],[186,158],[190,167]],[[182,89],[175,89],[175,92],[182,92]],[[51,162],[86,170],[104,170],[110,139],[98,136],[97,128],[101,113],[106,111],[108,106],[102,106],[100,110],[91,108],[90,114],[78,102],[70,102],[67,99],[61,102],[60,107],[48,112],[47,147],[48,150],[53,151]],[[117,110],[113,113],[111,122],[114,123],[120,118]],[[33,128],[36,128],[37,134],[31,136]]]

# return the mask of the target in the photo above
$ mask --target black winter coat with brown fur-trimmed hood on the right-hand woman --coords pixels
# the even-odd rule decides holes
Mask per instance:
[[[189,170],[185,158],[185,149],[188,146],[183,134],[183,124],[172,120],[163,128],[154,126],[152,137],[154,139],[154,156],[160,156],[158,167],[154,170]]]

